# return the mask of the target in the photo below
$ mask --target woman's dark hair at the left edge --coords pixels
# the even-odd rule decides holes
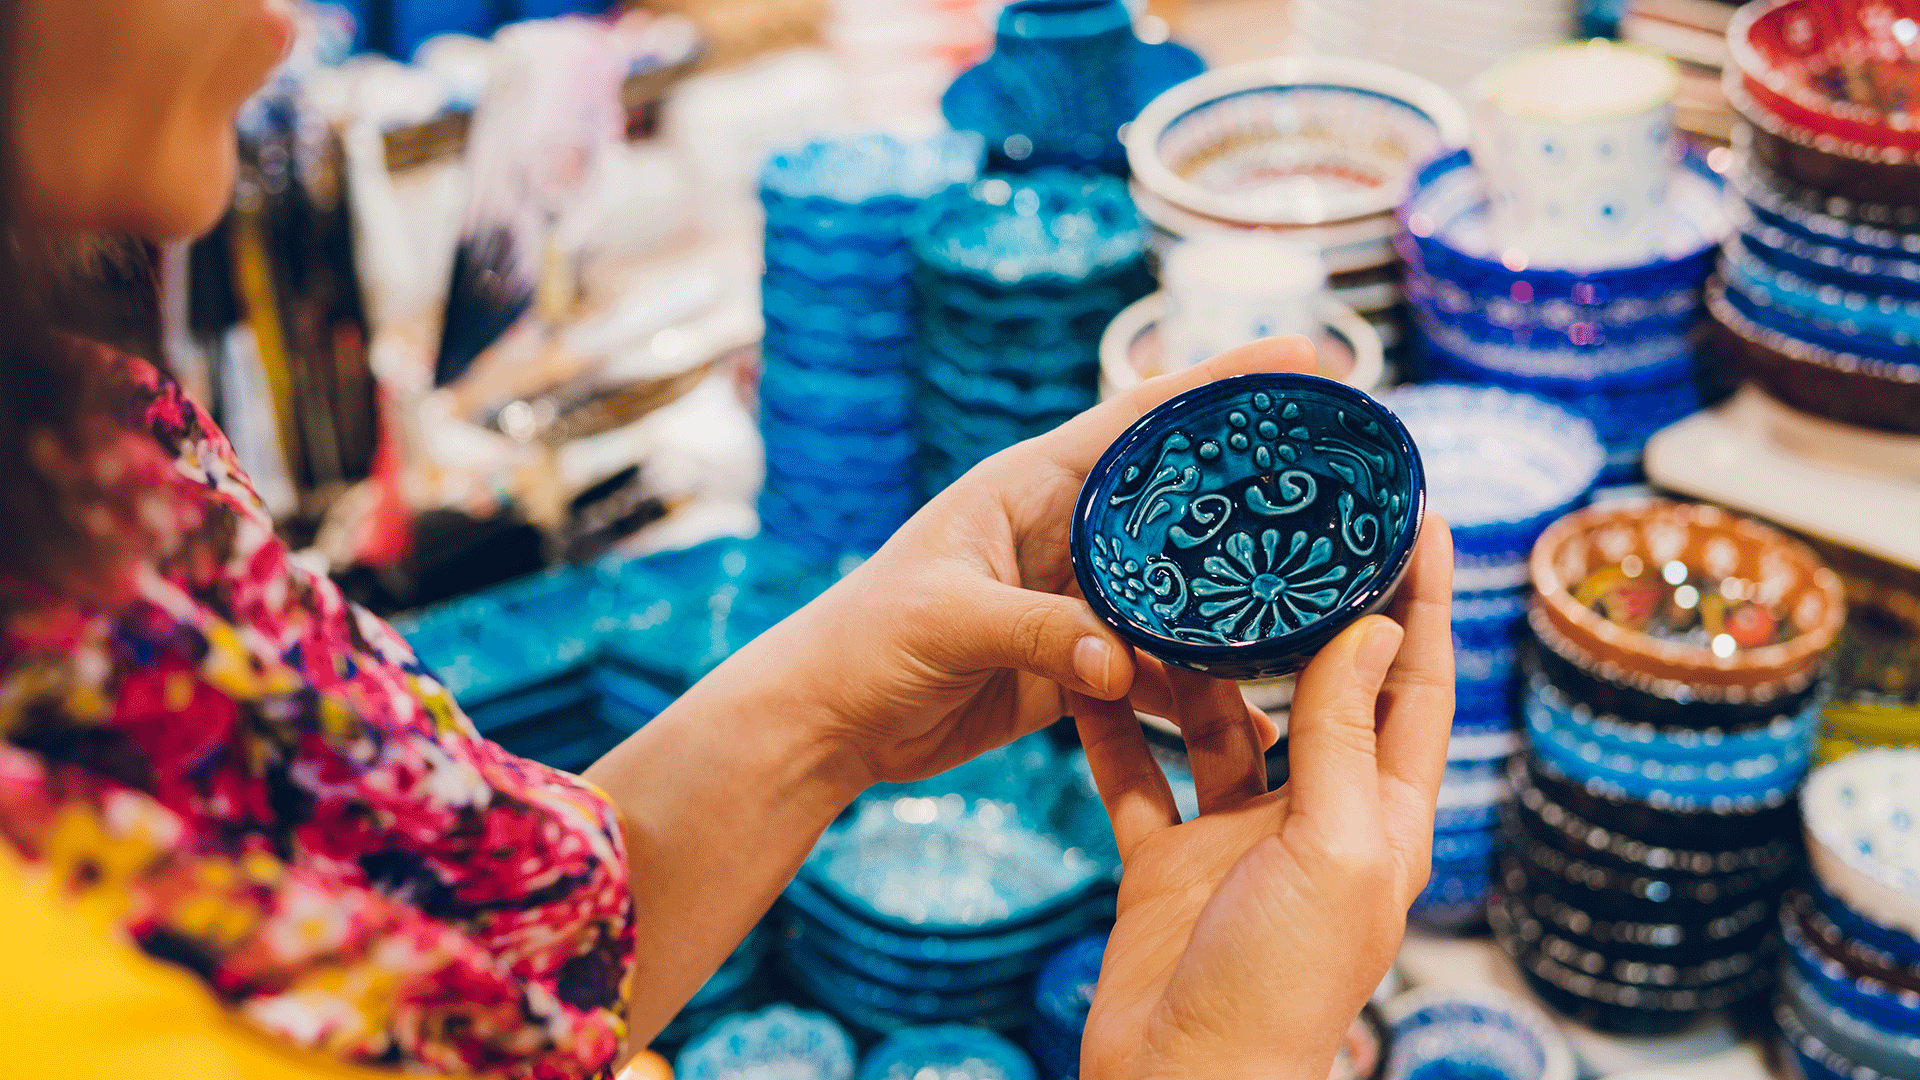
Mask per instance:
[[[19,10],[0,0],[0,611],[21,586],[84,586],[121,555],[115,538],[81,525],[98,492],[84,480],[58,482],[42,467],[50,452],[83,459],[92,440],[90,417],[115,405],[109,373],[90,367],[69,334],[92,334],[100,315],[125,315],[123,290],[100,288],[108,277],[150,282],[138,248],[127,242],[36,233],[19,206],[13,129],[19,67]],[[157,311],[152,284],[144,304]],[[134,344],[125,334],[111,344]],[[148,350],[138,350],[148,352]],[[150,356],[148,359],[157,359]]]

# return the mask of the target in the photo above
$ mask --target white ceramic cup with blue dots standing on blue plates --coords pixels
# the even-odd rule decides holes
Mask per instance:
[[[1665,56],[1607,40],[1515,54],[1473,83],[1494,234],[1536,267],[1653,261],[1678,161]]]

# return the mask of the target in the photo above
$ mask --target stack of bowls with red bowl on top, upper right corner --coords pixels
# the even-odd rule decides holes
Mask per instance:
[[[1738,234],[1709,296],[1722,346],[1770,396],[1908,436],[1908,459],[1920,442],[1916,19],[1841,0],[1740,12],[1726,71],[1745,121]]]

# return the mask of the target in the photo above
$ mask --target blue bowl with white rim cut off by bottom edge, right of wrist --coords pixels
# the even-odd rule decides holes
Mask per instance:
[[[1540,1011],[1492,988],[1413,990],[1386,1003],[1386,1080],[1572,1080],[1572,1047]]]

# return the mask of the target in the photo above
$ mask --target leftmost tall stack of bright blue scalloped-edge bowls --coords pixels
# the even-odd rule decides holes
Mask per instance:
[[[979,158],[966,135],[872,135],[776,154],[760,173],[760,519],[801,552],[870,553],[914,511],[906,221]]]

